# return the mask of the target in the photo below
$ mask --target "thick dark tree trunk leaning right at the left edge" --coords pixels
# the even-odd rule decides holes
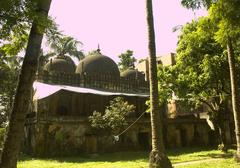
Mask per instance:
[[[47,17],[51,0],[38,0],[39,15]],[[43,30],[42,23],[33,21],[26,54],[19,76],[12,113],[1,156],[0,168],[16,168],[18,153],[24,136],[25,116],[31,104],[32,85],[38,67],[38,56],[41,48]]]

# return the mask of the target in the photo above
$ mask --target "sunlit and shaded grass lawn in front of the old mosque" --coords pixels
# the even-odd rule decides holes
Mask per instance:
[[[218,150],[199,148],[180,148],[170,150],[171,162],[181,163],[195,160],[220,158],[206,163],[177,166],[184,168],[239,168],[232,159],[233,150],[223,154]],[[62,158],[31,158],[22,156],[17,168],[147,168],[148,152],[118,152],[101,154],[95,157],[62,157]]]

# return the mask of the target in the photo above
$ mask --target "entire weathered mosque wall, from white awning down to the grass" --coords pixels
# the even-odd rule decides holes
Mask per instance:
[[[36,122],[26,125],[25,151],[42,156],[56,156],[149,150],[151,130],[150,118],[147,114],[121,135],[117,142],[113,136],[100,136],[91,131],[88,116],[95,110],[103,112],[113,98],[113,96],[60,91],[38,101]],[[125,100],[136,106],[136,113],[128,118],[130,125],[146,110],[146,98],[125,97]],[[167,147],[209,144],[210,129],[205,120],[168,119],[164,127]]]

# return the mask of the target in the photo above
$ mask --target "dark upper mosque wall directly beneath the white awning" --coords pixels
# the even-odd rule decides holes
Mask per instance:
[[[38,100],[38,116],[90,116],[94,111],[104,112],[110,100],[117,96],[81,94],[61,90],[47,98]],[[136,107],[136,114],[146,111],[146,97],[122,96]]]

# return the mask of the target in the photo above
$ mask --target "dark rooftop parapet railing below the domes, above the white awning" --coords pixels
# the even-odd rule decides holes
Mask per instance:
[[[66,73],[40,73],[37,81],[75,87],[93,88],[98,90],[128,92],[128,93],[148,93],[149,83],[143,79],[114,77],[108,74],[66,74]]]

